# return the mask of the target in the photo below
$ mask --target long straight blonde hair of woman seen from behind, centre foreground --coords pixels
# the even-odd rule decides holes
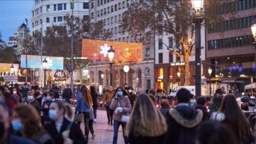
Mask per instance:
[[[126,135],[156,137],[165,133],[167,124],[150,97],[140,94],[125,129]]]

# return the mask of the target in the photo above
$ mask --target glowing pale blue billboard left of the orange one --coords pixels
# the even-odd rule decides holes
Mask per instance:
[[[47,60],[48,69],[63,69],[63,57],[53,57],[53,56],[42,56],[42,60]],[[41,68],[41,56],[28,55],[28,68],[40,69]],[[20,67],[26,68],[26,55],[21,55],[20,57]]]

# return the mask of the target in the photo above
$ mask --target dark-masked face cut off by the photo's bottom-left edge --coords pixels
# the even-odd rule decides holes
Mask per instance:
[[[3,122],[3,123],[2,123]],[[10,128],[9,116],[2,105],[0,105],[0,142],[7,137]],[[3,125],[2,125],[3,124]]]

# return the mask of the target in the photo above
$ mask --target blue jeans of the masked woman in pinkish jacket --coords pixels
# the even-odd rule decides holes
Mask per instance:
[[[125,136],[125,125],[126,123],[124,122],[119,122],[117,120],[114,120],[114,137],[113,137],[113,144],[117,144],[117,137],[118,137],[118,130],[119,126],[122,126],[123,130],[123,139],[125,140],[125,144],[128,144],[128,137]]]

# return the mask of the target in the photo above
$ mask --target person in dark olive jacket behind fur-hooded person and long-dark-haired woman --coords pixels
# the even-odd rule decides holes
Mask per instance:
[[[215,91],[215,94],[213,96],[213,102],[209,105],[209,110],[210,110],[209,112],[213,113],[213,112],[219,111],[222,100],[223,100],[223,91],[221,90],[221,88],[219,88]]]

